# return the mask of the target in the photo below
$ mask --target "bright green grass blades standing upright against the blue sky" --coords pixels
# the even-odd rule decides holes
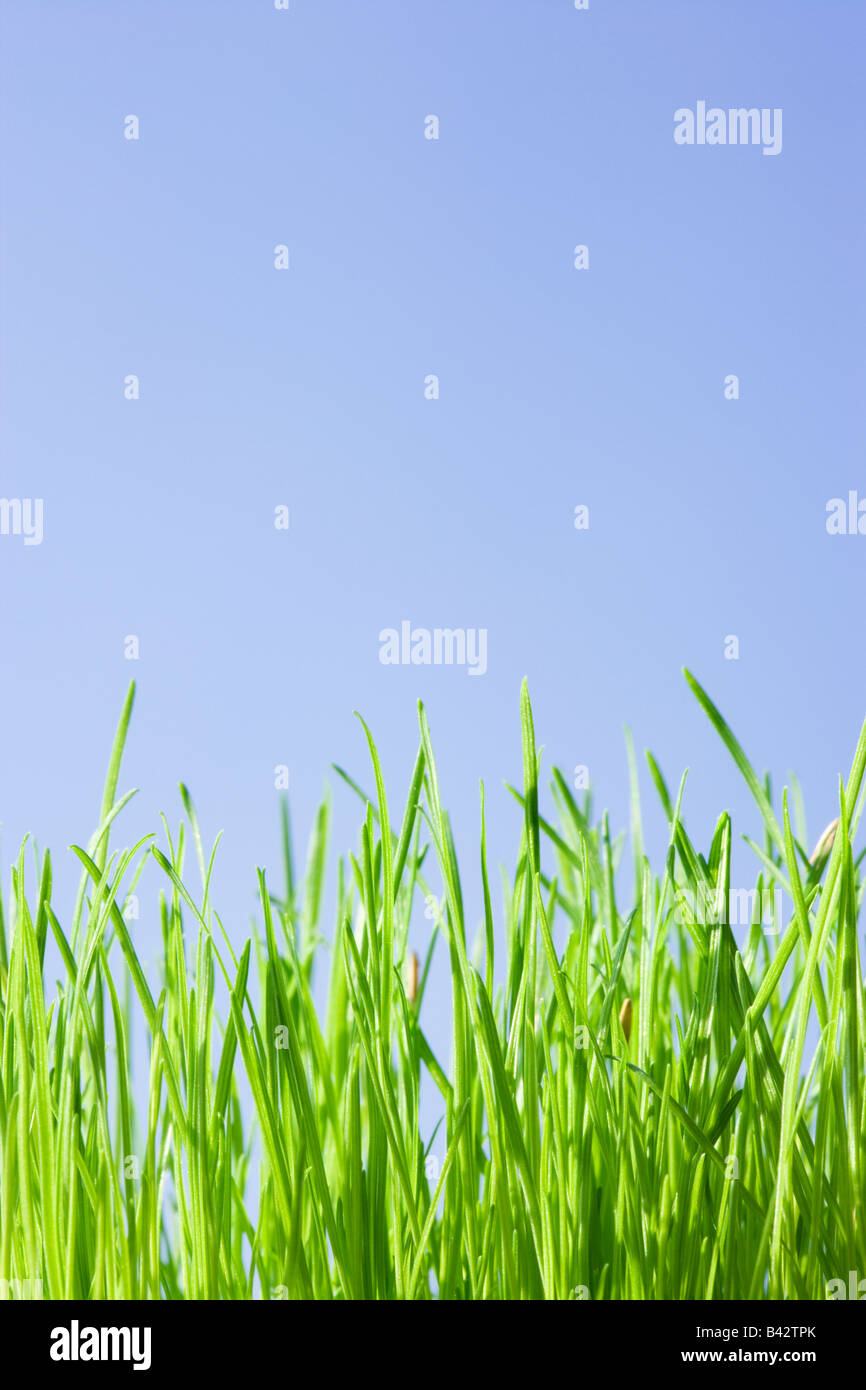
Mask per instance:
[[[341,773],[363,821],[338,863],[329,949],[322,808],[303,881],[285,810],[281,890],[259,872],[260,923],[236,952],[185,788],[164,851],[154,837],[108,851],[129,799],[117,787],[131,689],[97,830],[74,849],[68,930],[47,853],[33,876],[22,847],[0,908],[0,1291],[40,1280],[44,1298],[813,1300],[830,1279],[865,1275],[852,844],[866,726],[838,827],[809,853],[796,788],[777,813],[687,678],[760,813],[758,887],[784,894],[781,931],[756,906],[740,947],[727,813],[701,853],[684,784],[673,798],[648,755],[670,830],[660,872],[642,852],[634,758],[627,840],[612,841],[606,816],[591,824],[589,799],[559,771],[548,819],[524,685],[521,838],[500,910],[484,788],[481,903],[464,903],[420,706],[399,820],[366,726],[374,795]],[[145,870],[164,876],[156,994],[124,917]],[[410,919],[424,903],[436,913],[418,962]],[[424,1027],[439,941],[449,1062]],[[49,997],[51,942],[61,979]],[[149,1052],[140,1084],[135,1030]],[[442,1116],[427,1141],[424,1079]]]

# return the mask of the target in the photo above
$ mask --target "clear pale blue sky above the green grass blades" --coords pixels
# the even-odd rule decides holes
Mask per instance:
[[[371,781],[359,709],[396,805],[418,698],[477,919],[524,674],[613,826],[628,723],[691,767],[699,841],[758,830],[687,664],[817,837],[866,706],[866,537],[826,530],[866,498],[862,8],[7,0],[3,31],[0,496],[44,503],[42,545],[0,537],[7,865],[33,831],[74,881],[131,677],[121,842],[186,781],[238,938],[275,764],[306,833],[332,760]],[[677,146],[699,100],[781,108],[781,153]],[[485,628],[487,674],[382,666],[402,620]],[[341,849],[356,823],[336,788]]]

